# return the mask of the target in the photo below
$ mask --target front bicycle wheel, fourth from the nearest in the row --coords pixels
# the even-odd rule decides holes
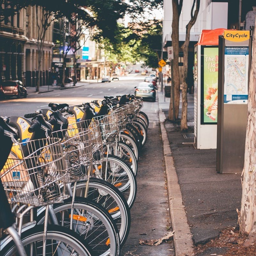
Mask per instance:
[[[132,169],[120,157],[108,155],[108,158],[104,156],[100,172],[104,180],[122,192],[131,209],[137,193],[137,182]]]

